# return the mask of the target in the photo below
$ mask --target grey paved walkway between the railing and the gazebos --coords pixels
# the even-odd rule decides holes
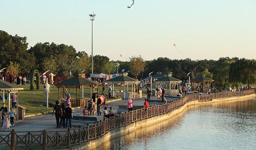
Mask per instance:
[[[141,99],[135,99],[132,100],[134,103],[134,106],[143,106],[144,105],[144,97]],[[156,97],[152,97],[152,99],[156,99]],[[168,98],[166,98],[168,100]],[[115,101],[115,102],[109,102],[106,105],[102,105],[101,111],[102,111],[102,115],[99,116],[98,120],[103,120],[103,110],[104,107],[106,106],[109,110],[109,108],[112,106],[114,112],[117,114],[117,109],[118,109],[118,105],[127,105],[127,100],[119,100],[119,101]],[[80,115],[83,115],[82,111],[84,108],[80,108],[80,109],[75,109],[73,110],[73,114],[76,115],[77,113],[79,113]],[[97,115],[97,113],[95,112],[95,115]],[[83,122],[83,121],[75,121],[72,120],[72,126],[74,128],[78,128],[79,126],[86,126],[87,123]],[[66,128],[60,128],[57,129],[56,128],[57,124],[56,124],[56,120],[55,120],[55,115],[52,116],[52,114],[47,114],[47,115],[43,115],[43,116],[38,116],[38,117],[32,117],[32,118],[26,118],[26,120],[22,120],[22,121],[15,121],[15,126],[10,128],[10,131],[12,129],[14,129],[15,131],[42,131],[42,130],[46,130],[46,131],[63,131],[63,130],[67,130]],[[2,128],[2,131],[4,129]],[[7,129],[8,131],[8,129]],[[3,132],[1,132],[0,129],[0,134],[3,134]]]

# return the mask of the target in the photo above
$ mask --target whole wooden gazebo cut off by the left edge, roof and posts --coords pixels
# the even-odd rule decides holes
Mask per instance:
[[[9,82],[6,82],[4,80],[0,80],[0,93],[8,93],[8,100],[7,100],[8,101],[8,111],[10,111],[10,93],[17,93],[16,105],[18,106],[18,101],[19,101],[18,97],[19,97],[19,92],[21,90],[23,90],[23,88],[20,87],[20,86],[17,86],[15,84],[12,84],[12,83],[9,83]],[[4,102],[4,97],[3,97],[3,102]],[[22,111],[19,114],[19,109],[20,109],[19,107],[20,106],[13,109],[15,114],[17,114],[17,117],[16,117],[17,121],[19,119],[19,115],[20,115],[20,119],[23,119],[25,117],[25,116],[22,115],[23,114]],[[23,110],[23,109],[26,109],[26,108],[21,107],[21,109]]]

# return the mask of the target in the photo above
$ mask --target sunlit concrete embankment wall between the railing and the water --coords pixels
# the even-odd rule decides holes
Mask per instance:
[[[173,110],[171,113],[163,114],[160,116],[155,116],[149,119],[141,120],[138,122],[135,122],[133,124],[129,124],[124,127],[116,128],[107,134],[103,135],[101,138],[98,138],[96,140],[92,140],[86,143],[82,143],[81,145],[75,145],[72,146],[71,150],[85,150],[85,149],[93,149],[101,145],[102,143],[112,139],[119,137],[121,135],[125,135],[127,133],[133,132],[139,128],[146,127],[152,124],[156,124],[160,121],[165,121],[167,119],[170,119],[171,117],[178,115],[179,113],[182,113],[182,111],[185,110],[185,108],[192,106],[192,105],[202,105],[202,104],[209,104],[209,103],[217,103],[217,102],[224,102],[224,101],[232,101],[232,100],[245,100],[247,98],[254,98],[256,97],[255,94],[245,95],[245,96],[239,96],[239,97],[227,97],[227,98],[218,98],[213,99],[208,102],[198,102],[198,100],[193,100],[191,102],[187,102],[185,105],[181,106],[180,108],[177,108]]]

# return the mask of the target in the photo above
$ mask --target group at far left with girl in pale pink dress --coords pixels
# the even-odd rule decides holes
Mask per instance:
[[[4,131],[6,131],[7,128],[10,129],[10,127],[14,126],[13,120],[15,112],[13,111],[13,108],[10,108],[10,112],[8,114],[8,109],[6,108],[5,103],[3,103],[3,107],[0,108],[0,112],[2,118],[2,128],[4,128]]]

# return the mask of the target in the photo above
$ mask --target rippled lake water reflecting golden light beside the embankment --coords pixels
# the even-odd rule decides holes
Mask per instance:
[[[256,99],[191,106],[97,150],[255,150]],[[94,149],[94,150],[96,150]]]

